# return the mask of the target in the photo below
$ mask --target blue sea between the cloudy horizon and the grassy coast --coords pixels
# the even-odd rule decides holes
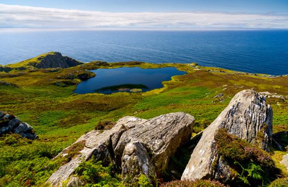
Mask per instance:
[[[0,64],[58,51],[82,62],[190,63],[288,74],[288,31],[0,31]]]

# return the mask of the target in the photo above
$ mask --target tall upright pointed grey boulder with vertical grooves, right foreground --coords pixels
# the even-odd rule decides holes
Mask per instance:
[[[245,139],[252,144],[260,144],[269,151],[272,139],[272,109],[266,105],[265,97],[253,90],[243,90],[236,94],[227,108],[204,131],[191,154],[182,180],[215,178],[227,180],[231,171],[225,160],[219,157],[215,142],[218,129],[226,128],[228,133]],[[263,139],[257,135],[263,133]],[[218,163],[215,167],[213,163]],[[216,169],[215,169],[216,168]]]

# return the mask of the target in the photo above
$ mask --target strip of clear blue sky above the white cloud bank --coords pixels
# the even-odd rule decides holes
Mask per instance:
[[[107,12],[288,12],[287,0],[0,0],[0,3]]]

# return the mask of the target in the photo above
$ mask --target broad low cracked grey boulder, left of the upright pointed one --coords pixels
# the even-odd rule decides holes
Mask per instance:
[[[161,115],[149,120],[136,117],[121,118],[110,130],[93,130],[81,136],[74,144],[84,142],[80,154],[61,166],[47,182],[52,186],[73,180],[79,163],[94,156],[104,164],[114,163],[122,170],[122,178],[136,179],[145,174],[152,179],[167,167],[169,158],[185,144],[193,131],[195,119],[183,112]],[[73,145],[72,145],[73,146]],[[65,156],[66,148],[60,155]]]

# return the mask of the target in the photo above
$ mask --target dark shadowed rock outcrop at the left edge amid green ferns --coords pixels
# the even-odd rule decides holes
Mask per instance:
[[[0,111],[0,134],[18,133],[28,139],[37,138],[34,129],[27,123],[20,121],[19,118],[12,114]]]

